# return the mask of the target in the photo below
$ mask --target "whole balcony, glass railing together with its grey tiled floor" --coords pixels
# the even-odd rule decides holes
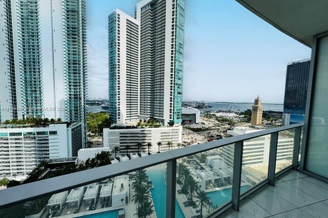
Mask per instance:
[[[142,170],[148,178],[140,182],[148,190],[145,196],[151,212],[147,217],[289,217],[285,214],[302,214],[307,209],[321,212],[314,208],[328,200],[328,184],[297,171],[302,126],[238,135],[8,188],[0,191],[0,213],[12,214],[9,217],[25,217],[31,211],[40,217],[93,213],[137,217],[141,203],[133,182],[138,183]],[[278,160],[286,142],[291,142],[292,152]],[[259,146],[264,147],[261,154],[258,148],[250,154]],[[94,183],[99,191],[86,202],[83,195]],[[105,189],[108,195],[103,196]],[[65,191],[76,195],[76,200],[63,199],[57,206],[48,203]],[[309,217],[310,212],[306,212]]]

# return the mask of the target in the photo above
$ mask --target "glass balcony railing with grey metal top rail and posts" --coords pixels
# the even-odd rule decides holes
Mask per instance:
[[[0,191],[0,217],[216,217],[298,166],[303,124]]]

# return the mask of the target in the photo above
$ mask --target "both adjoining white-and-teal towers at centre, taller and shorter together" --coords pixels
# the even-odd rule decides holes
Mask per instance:
[[[136,118],[181,123],[185,0],[142,0],[136,19],[122,14],[115,10],[108,17],[113,123]]]

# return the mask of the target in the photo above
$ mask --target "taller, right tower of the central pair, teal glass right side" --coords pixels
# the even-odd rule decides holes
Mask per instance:
[[[162,124],[182,121],[185,0],[142,0],[140,22],[140,117]]]

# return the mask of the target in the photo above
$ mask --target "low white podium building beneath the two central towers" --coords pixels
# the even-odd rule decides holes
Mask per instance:
[[[157,153],[157,143],[161,142],[160,151],[167,151],[169,147],[167,142],[171,141],[173,145],[177,145],[182,142],[182,126],[178,127],[159,127],[159,128],[136,128],[136,129],[109,129],[103,130],[104,147],[114,148],[119,146],[121,153],[126,151],[126,145],[130,145],[129,151],[135,153],[137,149],[135,145],[138,142],[146,145],[146,143],[152,143],[151,153]],[[148,152],[148,148],[145,146],[141,151]]]

